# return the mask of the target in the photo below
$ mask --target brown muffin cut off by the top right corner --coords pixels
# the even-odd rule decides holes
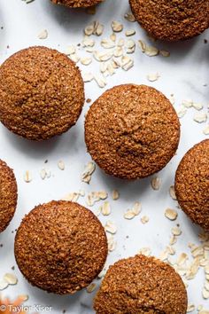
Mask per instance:
[[[208,0],[129,0],[135,19],[153,37],[178,41],[209,27]]]

